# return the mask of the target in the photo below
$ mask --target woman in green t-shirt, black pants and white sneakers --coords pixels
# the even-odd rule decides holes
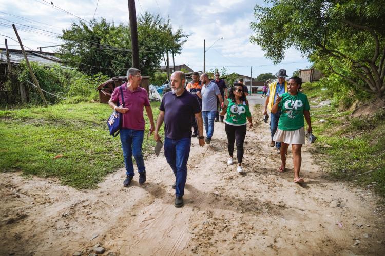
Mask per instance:
[[[228,102],[227,102],[228,101]],[[252,114],[248,107],[246,96],[243,92],[243,85],[238,83],[230,90],[228,99],[223,103],[221,115],[225,119],[225,131],[227,135],[227,150],[230,157],[227,164],[233,164],[234,142],[237,145],[238,173],[244,173],[242,169],[243,142],[246,136],[246,123],[253,127]]]

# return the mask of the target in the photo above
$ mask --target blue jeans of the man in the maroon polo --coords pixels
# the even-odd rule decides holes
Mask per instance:
[[[138,166],[138,173],[146,170],[142,155],[143,130],[133,130],[128,128],[120,129],[120,141],[122,142],[124,164],[126,165],[126,174],[134,176],[132,155]]]

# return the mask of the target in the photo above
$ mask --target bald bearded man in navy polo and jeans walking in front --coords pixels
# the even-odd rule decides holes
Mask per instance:
[[[164,121],[164,155],[176,177],[175,207],[183,206],[187,161],[191,147],[192,115],[195,115],[198,122],[199,145],[205,145],[200,104],[194,94],[185,90],[185,80],[183,72],[172,73],[172,91],[163,96],[154,133],[154,139],[159,141],[161,138],[158,132]]]

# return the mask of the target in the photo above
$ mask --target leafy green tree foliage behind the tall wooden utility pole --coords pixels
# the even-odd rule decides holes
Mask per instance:
[[[170,20],[145,12],[138,17],[138,44],[140,69],[143,75],[152,75],[159,67],[166,51],[180,53],[188,35],[182,29],[172,32]],[[115,25],[105,19],[79,20],[59,36],[65,44],[62,58],[68,65],[89,75],[125,75],[132,66],[131,34],[128,24]]]

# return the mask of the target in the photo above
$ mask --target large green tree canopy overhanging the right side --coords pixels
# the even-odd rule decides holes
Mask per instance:
[[[272,0],[256,5],[255,35],[275,63],[294,47],[356,91],[385,92],[385,0]]]

